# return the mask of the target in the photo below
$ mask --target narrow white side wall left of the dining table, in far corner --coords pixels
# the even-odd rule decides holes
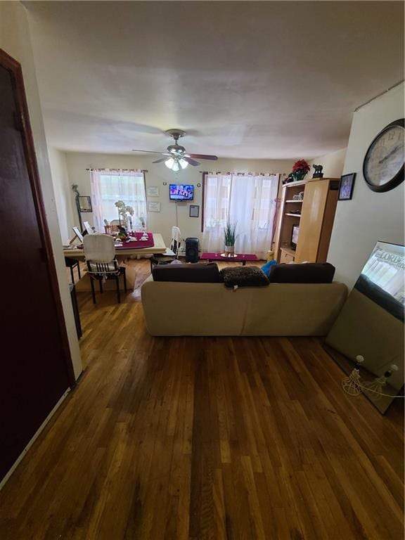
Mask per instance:
[[[53,191],[55,192],[56,210],[60,224],[60,236],[64,244],[68,244],[72,238],[72,226],[75,225],[74,210],[72,207],[72,189],[70,188],[68,166],[64,152],[48,146],[49,165]]]

